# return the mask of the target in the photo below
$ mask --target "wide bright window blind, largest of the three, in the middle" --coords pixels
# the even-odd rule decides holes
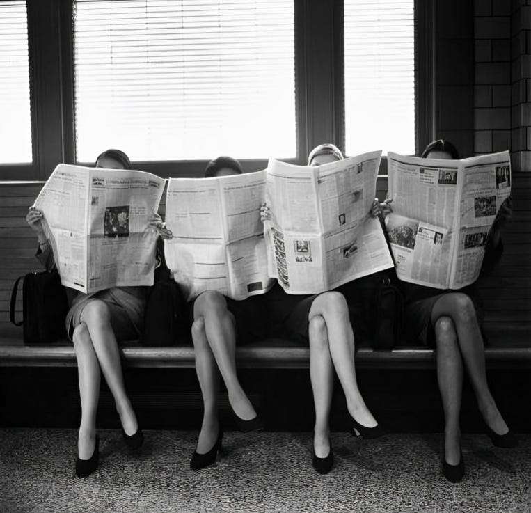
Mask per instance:
[[[77,0],[77,160],[295,157],[293,0]]]

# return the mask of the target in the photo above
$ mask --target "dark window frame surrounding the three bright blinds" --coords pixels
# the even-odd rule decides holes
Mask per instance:
[[[73,0],[26,0],[26,6],[33,164],[0,164],[0,181],[46,180],[60,162],[94,165],[75,158]],[[344,148],[343,3],[294,0],[294,30],[296,157],[286,161],[306,164],[308,152],[320,143]],[[415,0],[417,152],[436,132],[434,37],[434,0]],[[203,176],[208,161],[133,164],[161,177],[182,177]],[[246,171],[258,171],[267,159],[241,163]]]

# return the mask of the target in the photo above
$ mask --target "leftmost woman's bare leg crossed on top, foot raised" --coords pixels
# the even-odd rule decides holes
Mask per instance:
[[[103,301],[93,299],[83,309],[81,322],[88,327],[100,368],[116,402],[123,429],[126,434],[132,435],[138,430],[138,423],[125,392],[118,342],[111,326],[109,308]]]

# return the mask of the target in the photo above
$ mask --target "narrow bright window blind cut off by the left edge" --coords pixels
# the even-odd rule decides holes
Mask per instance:
[[[33,161],[25,1],[0,1],[0,164]]]

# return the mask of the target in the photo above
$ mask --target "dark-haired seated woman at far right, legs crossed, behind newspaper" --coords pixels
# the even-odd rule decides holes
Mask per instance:
[[[427,146],[422,157],[459,159],[459,152],[449,141],[439,139]],[[391,212],[388,203],[382,203],[380,207],[384,215]],[[500,258],[500,231],[510,215],[509,199],[500,208],[489,233],[482,266],[483,275]],[[475,284],[461,290],[440,290],[403,281],[400,286],[406,304],[408,338],[436,347],[437,379],[445,414],[443,474],[450,482],[459,482],[464,475],[459,427],[463,367],[468,371],[480,413],[486,423],[486,433],[493,444],[505,448],[517,445],[514,434],[509,431],[498,411],[486,381],[479,291]]]

